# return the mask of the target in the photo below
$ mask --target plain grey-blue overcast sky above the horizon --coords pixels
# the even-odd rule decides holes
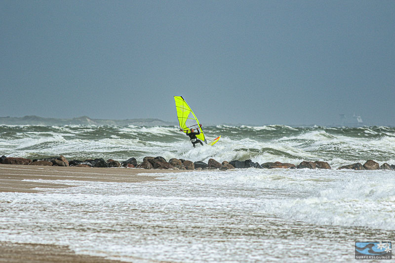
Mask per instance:
[[[0,1],[0,116],[395,125],[395,1]],[[199,108],[200,107],[200,108]]]

